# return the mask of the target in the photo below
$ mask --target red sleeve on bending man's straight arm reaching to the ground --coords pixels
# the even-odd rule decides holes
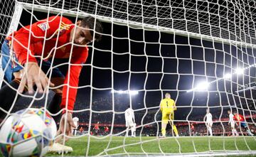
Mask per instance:
[[[75,104],[75,97],[78,92],[78,82],[80,72],[82,70],[82,64],[85,63],[88,56],[88,48],[78,48],[73,53],[71,59],[71,65],[65,75],[65,81],[63,86],[63,97],[60,104],[61,109],[65,109],[66,105],[68,110],[73,111]],[[68,97],[68,99],[67,99]],[[63,111],[65,113],[65,110]]]

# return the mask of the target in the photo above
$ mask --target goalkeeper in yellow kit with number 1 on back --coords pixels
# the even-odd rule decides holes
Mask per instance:
[[[162,137],[166,136],[166,126],[168,122],[171,124],[172,129],[176,136],[178,136],[178,130],[174,125],[174,111],[177,110],[176,104],[173,99],[171,99],[171,94],[166,92],[165,99],[161,100],[160,110],[162,112],[162,121],[161,121],[161,134]]]

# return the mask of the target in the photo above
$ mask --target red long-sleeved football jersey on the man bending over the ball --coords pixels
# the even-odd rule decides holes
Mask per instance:
[[[48,60],[51,57],[71,57],[71,63],[82,64],[87,60],[88,48],[74,45],[71,50],[70,31],[74,26],[68,18],[51,16],[48,20],[43,19],[11,33],[6,39],[11,40],[14,37],[12,47],[18,62],[22,65],[26,62],[37,62],[36,58]],[[68,104],[68,109],[73,110],[81,69],[82,65],[70,65],[65,75],[61,108]]]

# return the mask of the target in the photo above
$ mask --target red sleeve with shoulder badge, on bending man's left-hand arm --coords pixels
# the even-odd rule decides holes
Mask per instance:
[[[43,41],[45,38],[51,38],[60,26],[60,19],[60,16],[51,16],[48,18],[48,21],[47,18],[38,21],[30,26],[21,28],[7,37],[8,40],[11,40],[11,36],[14,36],[13,48],[21,65],[27,61],[36,62],[36,58],[33,56],[36,52],[31,48],[31,44]]]

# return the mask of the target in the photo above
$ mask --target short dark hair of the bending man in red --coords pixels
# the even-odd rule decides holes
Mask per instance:
[[[96,24],[95,24],[95,21],[96,21]],[[103,33],[103,26],[102,26],[102,23],[97,20],[97,18],[95,19],[92,16],[86,16],[85,18],[82,19],[81,26],[82,27],[88,26],[91,29],[90,34],[92,38],[94,38],[96,41],[101,40],[102,33]],[[94,30],[95,30],[95,37],[93,37]]]

